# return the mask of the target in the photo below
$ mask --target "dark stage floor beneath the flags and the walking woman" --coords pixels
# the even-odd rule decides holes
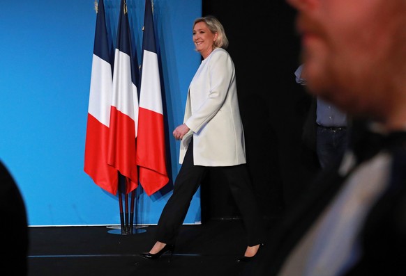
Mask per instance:
[[[269,229],[273,224],[266,222]],[[241,220],[183,225],[171,262],[169,255],[157,261],[138,256],[153,245],[156,226],[142,229],[146,231],[125,235],[110,227],[30,227],[29,276],[242,273],[244,265],[236,262],[246,249]]]

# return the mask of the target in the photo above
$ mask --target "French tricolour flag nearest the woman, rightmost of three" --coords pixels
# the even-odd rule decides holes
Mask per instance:
[[[151,0],[145,1],[137,164],[140,184],[147,195],[167,184],[163,104]]]

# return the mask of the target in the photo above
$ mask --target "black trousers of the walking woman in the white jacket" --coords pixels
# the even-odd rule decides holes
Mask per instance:
[[[265,232],[260,209],[257,205],[246,164],[218,167],[225,175],[227,184],[239,208],[245,226],[248,245],[264,242]],[[156,240],[174,244],[179,228],[188,212],[190,201],[210,167],[193,165],[193,140],[176,177],[172,196],[167,201],[158,221]]]

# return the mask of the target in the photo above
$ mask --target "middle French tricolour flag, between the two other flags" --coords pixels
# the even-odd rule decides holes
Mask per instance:
[[[126,177],[126,193],[137,188],[138,96],[126,1],[121,0],[114,54],[108,163]]]

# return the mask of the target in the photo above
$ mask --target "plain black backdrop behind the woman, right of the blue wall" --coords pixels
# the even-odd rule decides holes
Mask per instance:
[[[313,152],[301,142],[310,96],[295,82],[300,65],[295,10],[281,0],[202,1],[202,14],[222,22],[234,60],[248,169],[263,215],[292,204],[315,176]],[[202,184],[202,219],[239,211],[213,170]]]

